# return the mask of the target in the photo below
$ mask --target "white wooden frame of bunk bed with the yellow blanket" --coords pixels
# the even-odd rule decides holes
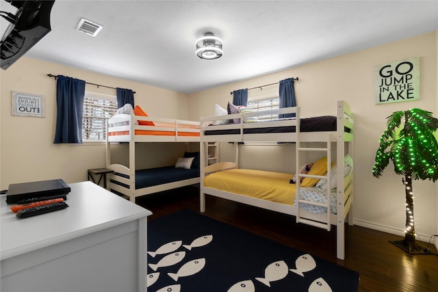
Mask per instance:
[[[337,102],[337,130],[336,131],[322,131],[322,132],[300,132],[296,131],[294,133],[266,133],[266,134],[244,134],[244,129],[259,128],[259,127],[280,127],[280,126],[296,126],[296,129],[300,129],[300,109],[299,107],[288,107],[285,109],[279,109],[274,111],[266,111],[266,114],[296,114],[296,119],[292,120],[279,120],[275,122],[254,122],[254,123],[244,123],[244,118],[251,116],[261,116],[260,112],[246,113],[246,114],[233,114],[226,116],[227,119],[230,118],[240,118],[240,124],[224,124],[215,125],[214,127],[209,127],[208,124],[216,122],[216,120],[225,120],[225,116],[222,117],[209,117],[201,118],[201,161],[203,161],[206,153],[204,152],[205,144],[208,142],[295,142],[296,143],[296,174],[299,174],[300,165],[308,161],[300,161],[300,153],[305,151],[320,151],[327,155],[327,176],[309,176],[306,174],[299,174],[300,177],[313,177],[313,178],[326,178],[330,182],[330,172],[331,172],[331,144],[335,142],[336,144],[336,161],[344,161],[344,155],[347,153],[353,158],[353,135],[354,135],[354,117],[350,111],[348,103],[345,101]],[[264,114],[263,114],[264,115]],[[240,129],[239,135],[205,135],[205,131],[211,131],[219,129]],[[349,129],[345,131],[344,129]],[[306,147],[308,143],[305,142],[326,142],[326,147],[324,148],[308,148]],[[238,146],[236,147],[236,157],[235,161],[238,161]],[[343,165],[343,163],[337,163],[337,165]],[[213,189],[210,187],[204,187],[204,178],[209,173],[217,172],[221,170],[227,170],[231,168],[237,168],[237,163],[235,162],[219,162],[213,165],[201,167],[201,212],[205,212],[205,195],[216,196],[219,198],[225,198],[227,200],[233,200],[235,202],[241,202],[244,204],[249,204],[255,207],[260,207],[263,209],[269,209],[272,211],[278,211],[281,213],[296,216],[296,221],[304,224],[309,224],[312,226],[317,226],[324,228],[326,230],[331,230],[331,225],[337,226],[337,258],[345,258],[345,221],[348,215],[348,224],[352,225],[353,218],[353,208],[352,202],[353,196],[353,175],[350,174],[344,178],[344,168],[337,168],[337,213],[332,214],[330,211],[328,213],[310,213],[302,208],[300,204],[313,204],[322,207],[327,207],[330,210],[329,205],[320,204],[316,202],[308,202],[305,200],[298,200],[297,196],[297,206],[292,206],[288,204],[281,204],[278,202],[270,202],[268,200],[261,200],[259,198],[252,198],[249,196],[242,196],[240,194],[233,194],[227,191],[220,191],[218,189]],[[300,194],[300,183],[296,185],[296,194]],[[327,190],[328,204],[330,204],[330,187]]]

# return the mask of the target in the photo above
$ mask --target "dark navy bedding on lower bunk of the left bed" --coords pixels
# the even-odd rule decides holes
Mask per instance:
[[[129,178],[129,176],[116,173],[116,175]],[[153,187],[154,185],[163,185],[174,181],[183,181],[189,178],[199,177],[199,168],[175,168],[175,166],[165,166],[163,168],[149,168],[146,170],[136,170],[136,189],[143,187]],[[112,181],[118,185],[129,188],[128,185]]]

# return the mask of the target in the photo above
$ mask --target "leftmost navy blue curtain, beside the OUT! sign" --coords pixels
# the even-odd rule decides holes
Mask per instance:
[[[82,144],[82,113],[85,81],[57,75],[56,77],[55,142]]]

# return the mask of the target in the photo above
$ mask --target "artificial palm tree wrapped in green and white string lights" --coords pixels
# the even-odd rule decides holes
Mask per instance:
[[[404,239],[391,243],[411,254],[424,253],[423,248],[415,243],[412,180],[435,182],[438,179],[438,143],[435,137],[438,119],[430,111],[422,109],[396,111],[387,119],[387,129],[381,137],[372,174],[381,177],[391,160],[396,174],[404,176],[406,230]]]

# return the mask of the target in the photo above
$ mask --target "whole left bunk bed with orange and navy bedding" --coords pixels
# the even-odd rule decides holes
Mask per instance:
[[[114,171],[108,174],[108,188],[136,202],[139,196],[199,183],[199,152],[189,152],[190,142],[199,143],[199,136],[198,121],[155,118],[146,114],[116,114],[107,121],[106,168]],[[129,143],[128,166],[111,163],[111,145],[114,142]],[[136,144],[150,142],[185,142],[188,151],[184,157],[193,157],[191,167],[186,169],[172,165],[137,170]]]

